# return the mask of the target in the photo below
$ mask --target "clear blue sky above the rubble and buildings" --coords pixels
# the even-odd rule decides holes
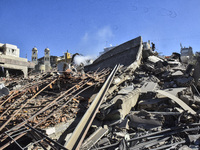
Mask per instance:
[[[110,44],[142,36],[165,55],[200,51],[200,0],[0,0],[0,43],[20,56],[98,55]]]

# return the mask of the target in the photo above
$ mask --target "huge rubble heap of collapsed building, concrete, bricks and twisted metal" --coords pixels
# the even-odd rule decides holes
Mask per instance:
[[[161,57],[137,37],[84,74],[68,68],[5,81],[0,149],[199,149],[200,55],[181,49]]]

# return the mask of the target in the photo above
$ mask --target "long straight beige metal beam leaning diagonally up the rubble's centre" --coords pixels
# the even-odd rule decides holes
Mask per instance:
[[[71,138],[69,139],[68,143],[65,146],[67,149],[77,150],[80,148],[80,146],[87,134],[87,131],[89,130],[90,125],[92,124],[92,121],[100,107],[100,104],[101,104],[118,68],[119,68],[119,65],[115,66],[112,73],[109,75],[109,77],[107,78],[103,87],[97,94],[96,98],[94,99],[94,101],[92,102],[92,104],[90,105],[90,107],[88,108],[88,110],[86,111],[84,116],[82,117],[81,121],[75,128]]]

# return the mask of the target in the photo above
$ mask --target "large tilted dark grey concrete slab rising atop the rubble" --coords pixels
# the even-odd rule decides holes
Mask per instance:
[[[142,37],[139,36],[102,54],[93,64],[85,66],[85,71],[98,68],[114,68],[116,64],[129,66],[142,55]]]

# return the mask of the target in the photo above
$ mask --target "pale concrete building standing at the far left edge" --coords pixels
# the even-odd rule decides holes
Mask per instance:
[[[16,45],[0,43],[0,77],[28,76],[28,71],[33,69],[35,64],[19,55],[20,50]]]

